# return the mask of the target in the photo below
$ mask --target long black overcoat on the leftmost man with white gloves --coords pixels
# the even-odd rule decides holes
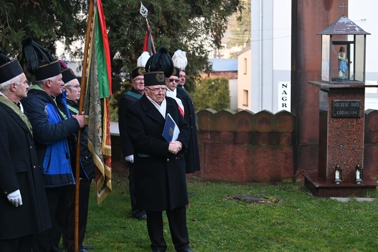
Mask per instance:
[[[0,239],[38,233],[51,227],[45,188],[33,137],[21,117],[0,102]],[[7,194],[20,190],[22,205]]]

